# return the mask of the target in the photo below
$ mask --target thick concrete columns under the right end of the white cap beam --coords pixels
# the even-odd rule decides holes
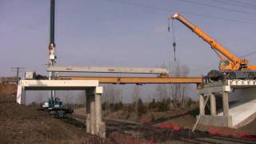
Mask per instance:
[[[102,87],[86,90],[86,132],[105,138],[105,123],[102,122]]]

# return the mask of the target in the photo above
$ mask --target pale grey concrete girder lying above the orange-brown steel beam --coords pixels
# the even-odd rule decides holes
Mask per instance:
[[[144,67],[115,66],[50,66],[47,71],[53,72],[84,72],[84,73],[125,73],[125,74],[168,74],[168,70]]]

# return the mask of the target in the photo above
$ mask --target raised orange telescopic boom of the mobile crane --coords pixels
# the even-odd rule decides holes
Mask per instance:
[[[182,22],[185,26],[187,26],[190,30],[192,30],[195,34],[197,34],[200,38],[210,44],[211,48],[217,50],[220,54],[225,56],[231,62],[231,70],[241,70],[241,66],[246,66],[248,64],[247,59],[242,59],[236,57],[234,54],[231,54],[230,51],[226,50],[221,44],[211,38],[208,34],[206,34],[203,30],[194,26],[191,22],[189,22],[186,18],[182,17],[181,14],[174,14],[173,16],[167,17],[168,19],[177,19],[178,21]],[[220,58],[221,55],[218,54]]]

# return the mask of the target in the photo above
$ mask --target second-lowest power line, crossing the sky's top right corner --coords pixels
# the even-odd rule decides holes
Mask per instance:
[[[205,4],[205,3],[194,2],[194,1],[192,2],[192,1],[188,1],[188,0],[179,0],[179,1],[180,2],[191,3],[191,4],[194,4],[194,5],[198,5],[198,6],[208,6],[208,7],[214,7],[216,9],[220,9],[220,10],[229,10],[229,11],[234,11],[234,12],[237,12],[237,13],[256,15],[255,13],[249,13],[249,12],[246,12],[246,11],[243,11],[243,10],[234,10],[234,9],[230,9],[230,8],[226,8],[226,7],[222,7],[222,6],[213,6],[213,5],[208,5],[208,4]]]

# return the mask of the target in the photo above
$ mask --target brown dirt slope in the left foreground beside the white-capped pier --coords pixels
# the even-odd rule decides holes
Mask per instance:
[[[52,118],[43,111],[19,105],[12,94],[17,86],[0,84],[1,143],[109,143],[78,128]]]

